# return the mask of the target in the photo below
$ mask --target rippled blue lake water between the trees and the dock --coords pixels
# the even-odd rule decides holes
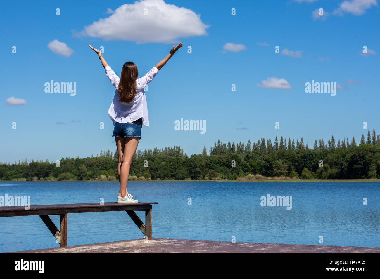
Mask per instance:
[[[129,181],[152,205],[152,236],[193,240],[380,247],[379,182]],[[0,196],[31,205],[116,202],[118,182],[0,181]],[[291,196],[261,206],[261,196]],[[191,205],[188,199],[191,198]],[[363,199],[367,205],[363,205]],[[290,201],[290,200],[289,200]],[[145,221],[144,211],[135,211]],[[50,216],[59,228],[59,216]],[[323,236],[323,243],[319,243]],[[68,214],[68,245],[142,238],[125,211]],[[0,252],[59,247],[39,216],[0,218]]]

